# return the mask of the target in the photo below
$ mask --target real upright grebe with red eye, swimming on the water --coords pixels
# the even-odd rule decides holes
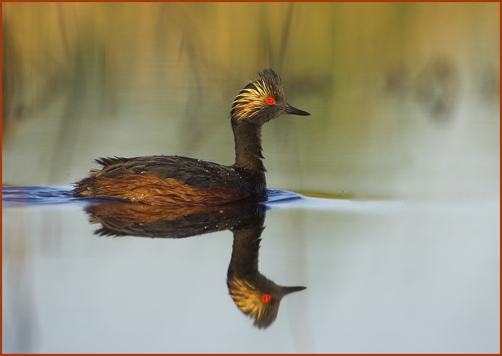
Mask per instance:
[[[261,127],[282,114],[310,115],[290,106],[281,78],[265,69],[235,98],[230,122],[235,163],[219,165],[180,156],[100,158],[103,168],[75,183],[75,196],[123,198],[154,205],[225,204],[249,196],[266,199]]]

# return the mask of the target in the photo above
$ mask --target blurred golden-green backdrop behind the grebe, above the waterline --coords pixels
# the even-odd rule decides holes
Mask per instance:
[[[100,156],[230,165],[230,104],[272,67],[310,117],[263,132],[268,186],[499,191],[499,3],[3,3],[3,185]]]

